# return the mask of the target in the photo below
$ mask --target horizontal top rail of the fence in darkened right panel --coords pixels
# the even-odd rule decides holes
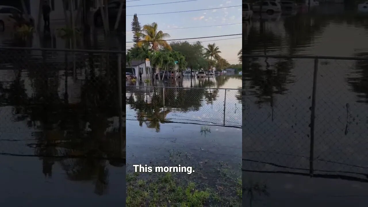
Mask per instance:
[[[368,60],[368,57],[338,57],[338,56],[311,56],[311,55],[248,55],[243,54],[243,57],[270,57],[284,59],[333,59],[333,60]]]

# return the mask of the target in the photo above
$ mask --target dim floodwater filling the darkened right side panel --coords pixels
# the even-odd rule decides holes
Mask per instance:
[[[343,4],[265,19],[245,53],[368,57],[367,18]],[[368,60],[318,61],[313,142],[314,60],[243,61],[245,206],[367,206]]]

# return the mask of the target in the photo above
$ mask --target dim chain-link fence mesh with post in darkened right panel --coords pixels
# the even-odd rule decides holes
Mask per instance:
[[[368,181],[368,58],[243,64],[243,170]]]

